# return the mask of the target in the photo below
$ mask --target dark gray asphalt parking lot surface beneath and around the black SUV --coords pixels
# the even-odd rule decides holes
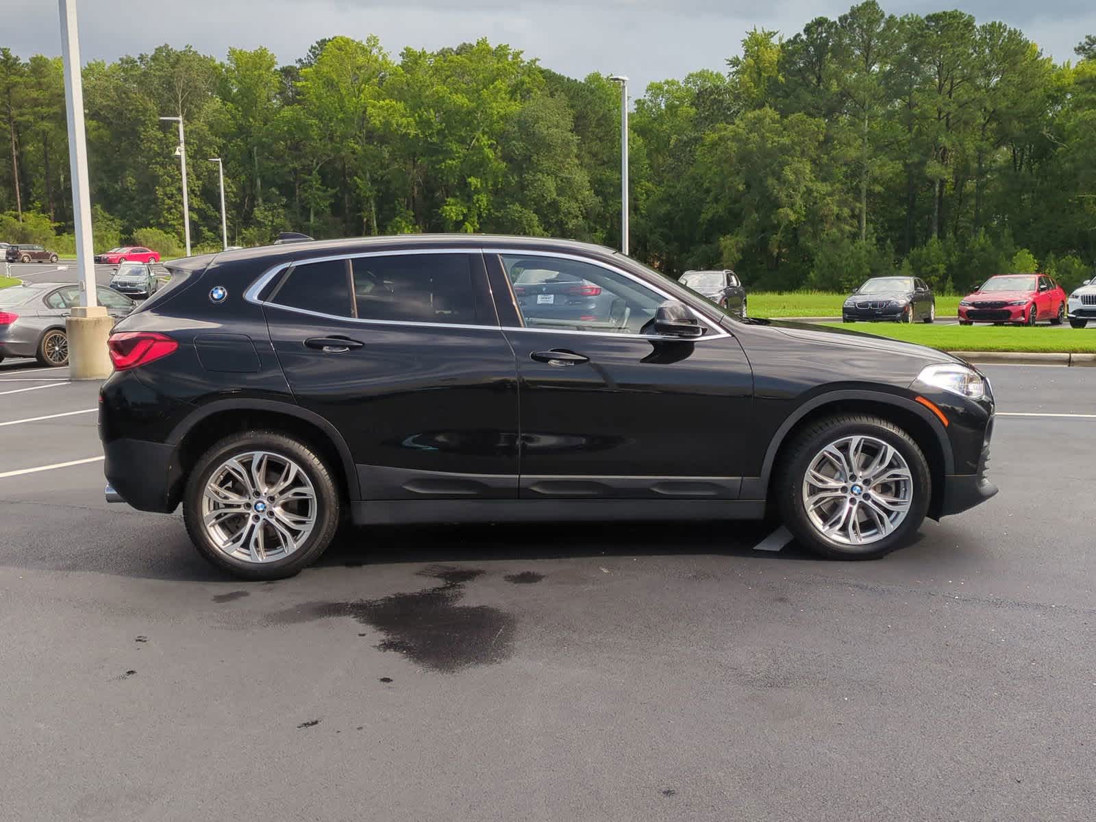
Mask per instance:
[[[380,528],[251,584],[103,502],[96,384],[5,362],[0,818],[1091,820],[1096,419],[1011,414],[1096,369],[985,372],[1001,493],[876,562]]]

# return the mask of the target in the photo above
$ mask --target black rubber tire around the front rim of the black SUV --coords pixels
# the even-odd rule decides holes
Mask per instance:
[[[831,540],[815,529],[800,493],[807,469],[819,452],[855,434],[872,436],[894,447],[910,467],[913,492],[905,520],[891,534],[861,548]],[[774,494],[788,530],[808,550],[830,559],[878,559],[901,548],[921,527],[932,498],[932,475],[924,453],[904,430],[878,416],[845,414],[820,420],[795,435],[781,457]]]

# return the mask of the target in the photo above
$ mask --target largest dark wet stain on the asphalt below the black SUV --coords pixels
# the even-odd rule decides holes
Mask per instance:
[[[459,605],[465,584],[483,574],[479,569],[427,566],[418,572],[441,585],[379,600],[311,603],[271,615],[274,624],[350,616],[379,631],[381,651],[395,651],[423,667],[455,673],[489,665],[514,652],[515,618],[488,605]]]

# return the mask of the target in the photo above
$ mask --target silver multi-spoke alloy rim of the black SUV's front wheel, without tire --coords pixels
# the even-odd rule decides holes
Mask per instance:
[[[910,513],[913,475],[892,445],[874,436],[845,436],[811,460],[802,499],[811,525],[826,539],[871,545]]]

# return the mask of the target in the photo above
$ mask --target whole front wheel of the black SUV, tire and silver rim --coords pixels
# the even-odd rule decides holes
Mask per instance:
[[[932,496],[925,455],[898,425],[831,416],[792,441],[776,493],[788,529],[833,559],[876,559],[921,527]]]

